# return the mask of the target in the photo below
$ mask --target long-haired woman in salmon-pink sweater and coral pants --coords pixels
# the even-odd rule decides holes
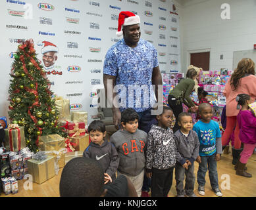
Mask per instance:
[[[234,136],[234,148],[232,148],[233,161],[235,165],[239,154],[242,152],[241,140],[239,138],[239,126],[236,120],[236,116],[239,111],[236,109],[237,102],[236,96],[245,93],[251,97],[251,100],[256,98],[256,76],[255,76],[255,64],[250,58],[243,58],[238,63],[238,68],[234,70],[234,73],[226,83],[223,95],[226,96],[226,129],[222,136],[222,146],[228,144],[228,140],[234,127],[236,126]]]

